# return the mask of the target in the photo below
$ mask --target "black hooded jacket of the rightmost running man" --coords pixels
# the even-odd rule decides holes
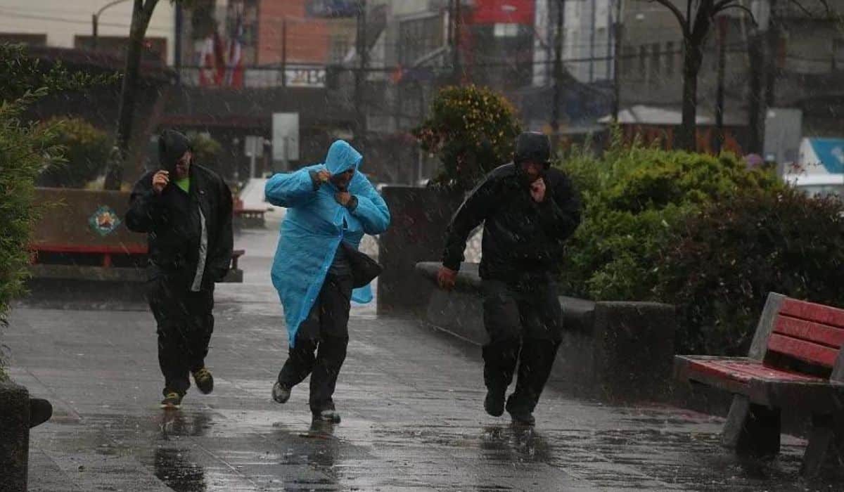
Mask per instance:
[[[545,200],[530,196],[527,179],[517,163],[545,162]],[[580,200],[571,181],[547,164],[548,138],[523,133],[514,162],[492,170],[454,214],[446,232],[442,263],[459,270],[468,235],[484,223],[480,276],[516,282],[550,278],[562,260],[563,245],[580,224]]]

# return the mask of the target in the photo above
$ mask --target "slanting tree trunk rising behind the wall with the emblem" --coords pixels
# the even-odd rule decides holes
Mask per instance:
[[[132,117],[135,99],[138,95],[138,70],[143,53],[143,37],[147,33],[149,19],[158,0],[135,0],[132,10],[132,26],[129,28],[129,44],[126,50],[126,68],[123,70],[123,85],[120,91],[120,109],[117,113],[116,155],[112,156],[106,173],[106,190],[119,190],[123,181],[123,167],[129,155],[129,140],[132,137]]]

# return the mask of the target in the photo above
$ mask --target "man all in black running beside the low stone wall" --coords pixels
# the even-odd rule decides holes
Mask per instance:
[[[533,409],[548,381],[561,339],[555,276],[563,244],[580,224],[571,181],[549,166],[550,144],[536,132],[519,135],[512,164],[493,170],[457,210],[448,227],[438,282],[452,289],[468,235],[484,222],[480,277],[484,280],[486,412],[505,410],[533,425]]]

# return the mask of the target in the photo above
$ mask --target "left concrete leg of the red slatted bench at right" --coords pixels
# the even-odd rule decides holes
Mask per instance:
[[[736,395],[721,435],[723,446],[740,452],[770,456],[780,452],[781,412],[750,403]]]

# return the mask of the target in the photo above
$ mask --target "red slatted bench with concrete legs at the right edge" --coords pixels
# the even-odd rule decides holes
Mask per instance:
[[[844,310],[771,293],[747,357],[676,355],[674,376],[734,394],[722,444],[776,454],[781,409],[812,415],[803,476],[844,444]],[[844,451],[844,450],[841,450]]]

